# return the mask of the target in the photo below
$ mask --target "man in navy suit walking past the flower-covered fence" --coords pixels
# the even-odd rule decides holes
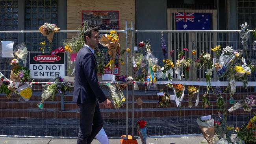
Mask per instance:
[[[98,46],[100,36],[97,28],[85,31],[85,44],[76,56],[73,101],[80,108],[80,127],[77,144],[91,144],[103,126],[98,103],[111,108],[111,102],[98,85],[97,62],[94,48]]]

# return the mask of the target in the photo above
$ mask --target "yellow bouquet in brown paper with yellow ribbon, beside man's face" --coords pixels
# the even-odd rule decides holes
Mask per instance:
[[[108,47],[108,54],[111,58],[105,67],[109,66],[109,69],[113,71],[115,69],[115,56],[120,49],[119,36],[117,35],[117,32],[110,31],[109,35],[103,35],[100,39],[100,44],[102,44],[102,46]]]

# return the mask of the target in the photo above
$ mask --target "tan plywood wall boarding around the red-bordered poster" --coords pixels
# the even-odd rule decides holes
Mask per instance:
[[[67,0],[67,30],[76,30],[82,22],[82,10],[119,11],[120,30],[125,30],[125,22],[131,27],[135,23],[135,0]],[[130,34],[130,33],[129,33]],[[69,35],[68,35],[69,36]],[[125,33],[120,33],[121,50],[126,50]],[[131,37],[128,39],[128,47],[131,48]],[[126,55],[122,55],[125,59]],[[130,61],[130,55],[128,55]],[[132,65],[128,63],[128,74],[131,75]],[[120,75],[126,74],[126,65],[120,64]]]

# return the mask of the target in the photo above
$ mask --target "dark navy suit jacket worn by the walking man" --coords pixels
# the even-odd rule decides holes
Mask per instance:
[[[76,56],[73,101],[76,103],[102,103],[106,96],[98,84],[96,59],[85,45]]]

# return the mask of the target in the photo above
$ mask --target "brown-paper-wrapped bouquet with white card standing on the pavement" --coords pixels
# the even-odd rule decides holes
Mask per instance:
[[[204,138],[207,140],[208,144],[213,144],[214,136],[214,120],[201,120],[197,118],[197,124],[200,127]]]

